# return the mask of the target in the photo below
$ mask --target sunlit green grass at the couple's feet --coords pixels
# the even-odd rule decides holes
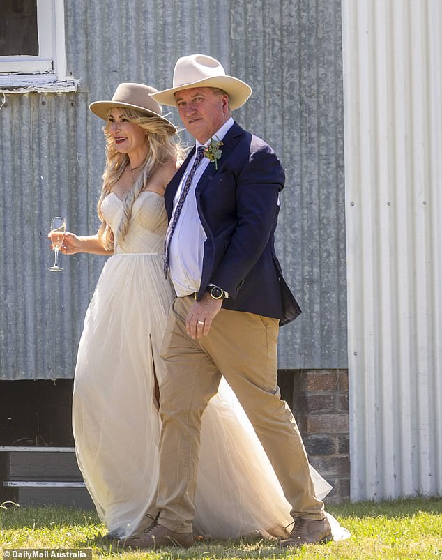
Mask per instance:
[[[203,540],[188,550],[122,552],[101,538],[96,513],[59,507],[0,509],[0,558],[8,548],[91,548],[93,560],[185,559],[432,559],[442,560],[442,499],[404,499],[329,506],[349,529],[340,543],[281,551],[259,537]]]

